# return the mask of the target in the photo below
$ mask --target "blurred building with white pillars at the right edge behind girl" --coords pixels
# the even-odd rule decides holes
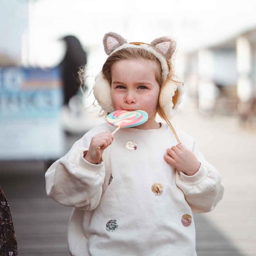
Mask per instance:
[[[184,76],[201,113],[255,115],[256,28],[186,53]]]

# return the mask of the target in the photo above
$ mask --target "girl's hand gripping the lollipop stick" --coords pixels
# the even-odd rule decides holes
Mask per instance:
[[[84,155],[84,159],[90,163],[100,163],[104,149],[111,145],[113,139],[114,136],[110,132],[95,135],[91,140],[87,153]]]

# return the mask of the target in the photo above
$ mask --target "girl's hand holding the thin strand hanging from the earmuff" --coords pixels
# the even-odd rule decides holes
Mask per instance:
[[[167,148],[164,160],[171,164],[178,172],[183,172],[188,176],[192,176],[198,172],[201,163],[183,144],[177,144],[172,148]]]

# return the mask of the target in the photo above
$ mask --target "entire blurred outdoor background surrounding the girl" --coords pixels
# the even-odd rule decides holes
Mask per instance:
[[[254,0],[0,1],[0,186],[20,256],[68,255],[71,209],[47,198],[44,173],[104,122],[90,92],[111,31],[176,39],[185,95],[172,122],[195,137],[226,189],[213,212],[195,216],[198,256],[256,255],[255,13]]]

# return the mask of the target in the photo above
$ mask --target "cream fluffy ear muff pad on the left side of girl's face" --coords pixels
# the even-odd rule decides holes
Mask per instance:
[[[95,78],[95,83],[93,85],[93,94],[98,104],[104,111],[114,111],[111,100],[111,85],[102,76],[102,72],[100,72]]]

